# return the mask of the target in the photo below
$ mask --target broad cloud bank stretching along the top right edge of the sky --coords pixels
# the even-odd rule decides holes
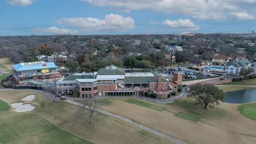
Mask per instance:
[[[229,13],[254,13],[255,0],[82,0],[97,6],[116,7],[117,10],[151,10],[170,14],[185,14],[195,19],[223,21]],[[239,18],[238,18],[239,19]]]

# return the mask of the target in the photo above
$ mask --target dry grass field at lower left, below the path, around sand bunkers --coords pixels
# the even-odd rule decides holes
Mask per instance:
[[[93,124],[89,124],[87,116],[75,115],[78,107],[66,102],[56,102],[53,106],[41,93],[0,92],[0,99],[10,105],[29,94],[37,95],[32,101],[35,110],[26,113],[16,113],[12,109],[0,111],[0,143],[170,143],[100,113],[95,113]],[[23,130],[24,127],[29,129]]]

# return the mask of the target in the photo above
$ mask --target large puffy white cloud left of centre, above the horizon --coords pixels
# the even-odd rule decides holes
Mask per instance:
[[[123,17],[119,14],[107,14],[100,20],[97,18],[62,18],[57,23],[65,23],[68,26],[79,28],[83,31],[98,30],[125,30],[135,27],[135,22],[131,17]]]

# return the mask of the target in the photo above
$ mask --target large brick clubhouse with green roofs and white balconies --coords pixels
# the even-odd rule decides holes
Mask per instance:
[[[148,73],[125,73],[125,69],[108,66],[94,73],[76,73],[61,78],[57,82],[57,92],[72,94],[77,90],[80,98],[142,95],[154,92],[157,98],[167,98],[167,94],[177,91],[182,82],[182,74],[162,76],[154,71]]]

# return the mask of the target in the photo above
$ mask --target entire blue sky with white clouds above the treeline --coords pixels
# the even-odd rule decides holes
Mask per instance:
[[[0,0],[0,35],[251,33],[256,0]]]

